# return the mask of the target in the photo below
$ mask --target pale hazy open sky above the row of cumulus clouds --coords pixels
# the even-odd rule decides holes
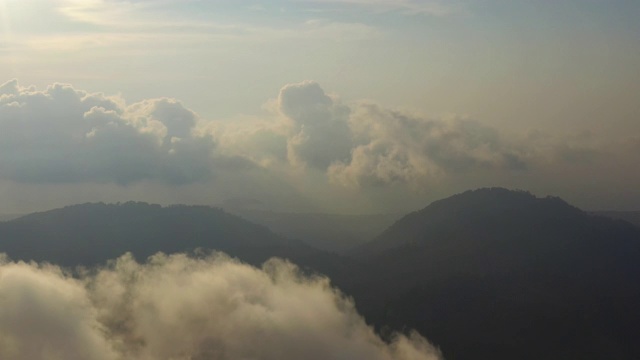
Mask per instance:
[[[639,82],[633,1],[2,3],[4,78],[177,97],[212,117],[311,79],[350,99],[504,123],[533,121],[523,113],[542,97],[555,112],[536,117],[557,124],[573,110],[555,91],[572,92],[581,115]]]

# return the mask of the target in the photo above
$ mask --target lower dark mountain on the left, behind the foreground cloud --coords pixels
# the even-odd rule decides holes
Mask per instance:
[[[0,223],[0,252],[14,260],[92,266],[125,252],[144,260],[160,251],[197,249],[223,251],[255,265],[277,256],[337,277],[345,263],[336,255],[206,206],[93,203]]]

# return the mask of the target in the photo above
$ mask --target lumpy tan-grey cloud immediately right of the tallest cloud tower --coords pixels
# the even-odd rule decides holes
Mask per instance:
[[[349,119],[356,145],[351,161],[328,170],[351,186],[406,183],[422,187],[471,170],[526,168],[517,150],[496,129],[457,117],[426,119],[363,103]]]

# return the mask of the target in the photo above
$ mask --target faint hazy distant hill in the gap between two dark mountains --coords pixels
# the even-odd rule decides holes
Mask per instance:
[[[230,209],[251,222],[291,239],[335,253],[361,245],[393,224],[402,214],[339,215]]]

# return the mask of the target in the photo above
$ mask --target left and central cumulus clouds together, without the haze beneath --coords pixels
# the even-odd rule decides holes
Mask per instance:
[[[213,123],[173,99],[127,105],[70,85],[38,91],[12,80],[0,86],[1,176],[35,183],[182,184],[245,159],[279,172],[284,166],[316,171],[348,187],[419,188],[475,170],[522,171],[542,157],[533,140],[547,146],[540,134],[515,146],[496,129],[455,116],[426,119],[372,103],[346,105],[310,81],[284,86],[271,115]],[[552,147],[565,161],[595,153]],[[248,165],[231,171],[242,166]]]

